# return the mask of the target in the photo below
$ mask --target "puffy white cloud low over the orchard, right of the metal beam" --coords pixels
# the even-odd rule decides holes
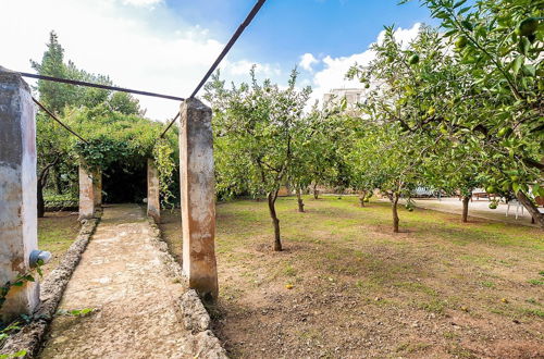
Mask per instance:
[[[417,23],[411,28],[398,28],[395,32],[395,38],[397,41],[403,41],[403,46],[406,47],[412,39],[416,38],[420,27],[421,24]],[[378,35],[376,41],[383,41],[384,35],[385,32],[382,30]],[[312,98],[321,101],[323,95],[333,88],[360,88],[361,84],[357,79],[349,81],[345,78],[346,73],[349,67],[356,63],[359,65],[366,65],[374,58],[375,53],[370,49],[370,46],[366,51],[354,53],[348,57],[332,58],[331,55],[326,55],[321,60],[323,70],[316,72],[313,75]]]

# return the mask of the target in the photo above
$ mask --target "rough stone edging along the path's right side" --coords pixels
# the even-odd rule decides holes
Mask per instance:
[[[148,218],[148,222],[152,231],[150,237],[156,247],[160,250],[161,260],[166,265],[169,274],[180,282],[187,283],[188,281],[183,275],[182,267],[170,253],[168,244],[161,237],[161,230],[153,219]],[[217,359],[228,358],[221,342],[210,329],[210,314],[195,289],[185,292],[181,296],[178,302],[183,314],[183,324],[185,329],[190,331],[194,335],[194,348],[197,352],[196,357]]]

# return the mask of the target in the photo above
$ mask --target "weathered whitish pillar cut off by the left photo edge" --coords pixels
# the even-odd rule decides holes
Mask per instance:
[[[30,270],[30,251],[38,245],[36,185],[30,89],[18,74],[0,67],[0,286]],[[0,309],[1,320],[30,314],[38,302],[38,282],[11,287]]]

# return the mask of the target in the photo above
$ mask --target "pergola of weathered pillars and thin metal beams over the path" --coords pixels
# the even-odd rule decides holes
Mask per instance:
[[[89,86],[114,91],[182,101],[180,111],[165,126],[161,137],[180,119],[180,169],[183,232],[183,271],[189,287],[205,299],[218,297],[218,272],[214,252],[215,207],[212,111],[196,95],[227,54],[244,29],[251,23],[265,0],[258,0],[238,26],[223,51],[191,95],[181,98],[66,78],[13,72],[0,67],[0,281],[13,282],[33,270],[36,258],[47,258],[37,246],[36,213],[36,110],[35,103],[64,129],[86,143],[63,124],[38,100],[23,77],[52,81],[74,86]],[[152,159],[148,160],[148,209],[160,221],[159,176]],[[79,165],[79,219],[96,216],[100,208],[101,173]],[[39,257],[41,256],[41,257]],[[11,288],[0,309],[3,321],[30,314],[39,304],[39,283],[25,282]]]

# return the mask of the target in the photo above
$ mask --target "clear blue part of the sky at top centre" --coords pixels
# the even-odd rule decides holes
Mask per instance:
[[[431,23],[429,10],[417,0],[268,0],[232,58],[259,62],[298,63],[300,53],[350,55],[375,41],[383,25],[411,27]],[[168,1],[178,16],[210,29],[222,41],[252,8],[252,0]]]

